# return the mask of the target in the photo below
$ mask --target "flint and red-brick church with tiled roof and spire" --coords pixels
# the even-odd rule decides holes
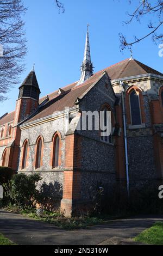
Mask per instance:
[[[65,216],[91,210],[95,184],[129,196],[163,180],[163,74],[133,57],[93,74],[88,30],[81,69],[79,81],[41,98],[33,69],[15,111],[0,118],[0,166],[40,173]],[[101,111],[111,112],[111,135],[77,129],[83,112]]]

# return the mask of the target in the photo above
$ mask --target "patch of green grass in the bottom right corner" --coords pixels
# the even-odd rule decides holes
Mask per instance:
[[[149,245],[163,245],[163,222],[156,222],[151,228],[142,231],[134,239]]]

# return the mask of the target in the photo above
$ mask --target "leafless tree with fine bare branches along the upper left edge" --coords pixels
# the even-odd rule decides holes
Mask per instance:
[[[0,101],[19,82],[27,53],[22,15],[26,13],[21,0],[0,0]]]

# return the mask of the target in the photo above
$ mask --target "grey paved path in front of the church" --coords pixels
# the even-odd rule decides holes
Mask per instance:
[[[122,240],[134,237],[155,221],[163,221],[163,216],[139,216],[67,231],[52,224],[0,210],[0,233],[18,245],[98,245],[105,244],[104,241],[112,237]]]

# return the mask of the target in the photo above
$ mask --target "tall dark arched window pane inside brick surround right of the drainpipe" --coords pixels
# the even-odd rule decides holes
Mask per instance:
[[[133,92],[130,93],[130,111],[131,124],[141,125],[139,92],[136,92],[136,90],[133,90]]]

